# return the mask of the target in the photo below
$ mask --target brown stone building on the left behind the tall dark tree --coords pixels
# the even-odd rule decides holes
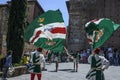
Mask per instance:
[[[6,51],[6,33],[7,23],[9,17],[10,2],[7,4],[0,4],[0,54]],[[44,13],[44,10],[40,6],[37,0],[28,0],[28,15],[27,23],[31,23],[38,15]],[[28,47],[28,45],[26,45]]]

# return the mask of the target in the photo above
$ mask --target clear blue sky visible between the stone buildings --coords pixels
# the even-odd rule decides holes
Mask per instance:
[[[4,4],[7,1],[11,0],[0,0],[0,4]],[[63,15],[65,25],[68,26],[69,16],[65,1],[67,0],[38,0],[44,11],[60,9]]]

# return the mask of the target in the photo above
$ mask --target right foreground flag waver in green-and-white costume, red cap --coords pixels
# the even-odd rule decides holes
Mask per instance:
[[[109,61],[104,56],[100,56],[99,52],[99,48],[95,49],[88,58],[91,64],[91,69],[86,75],[88,80],[105,80],[103,71],[109,67]]]

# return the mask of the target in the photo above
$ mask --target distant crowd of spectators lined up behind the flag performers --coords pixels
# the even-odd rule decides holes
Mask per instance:
[[[92,53],[91,49],[83,49],[80,51],[69,51],[69,54],[72,55],[79,63],[88,63],[88,57]],[[101,48],[100,55],[104,56],[109,60],[110,65],[118,66],[120,65],[120,49],[116,48]],[[45,56],[46,62],[55,62],[56,57],[58,57],[59,62],[72,62],[73,59],[69,58],[65,53],[56,53],[50,52]]]

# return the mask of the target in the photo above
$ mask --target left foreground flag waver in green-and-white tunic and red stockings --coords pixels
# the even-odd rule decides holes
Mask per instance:
[[[31,74],[31,80],[34,80],[35,75],[37,75],[38,80],[41,80],[42,70],[41,63],[44,62],[44,56],[42,54],[42,48],[38,48],[36,51],[31,54],[31,63],[32,66],[28,69]]]

